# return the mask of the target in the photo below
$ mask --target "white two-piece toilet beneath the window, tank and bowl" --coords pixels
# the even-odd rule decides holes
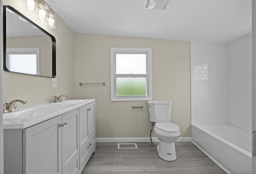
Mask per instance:
[[[180,137],[180,127],[171,123],[172,101],[148,101],[149,120],[155,123],[154,131],[159,140],[156,147],[160,158],[177,159],[174,142]]]

